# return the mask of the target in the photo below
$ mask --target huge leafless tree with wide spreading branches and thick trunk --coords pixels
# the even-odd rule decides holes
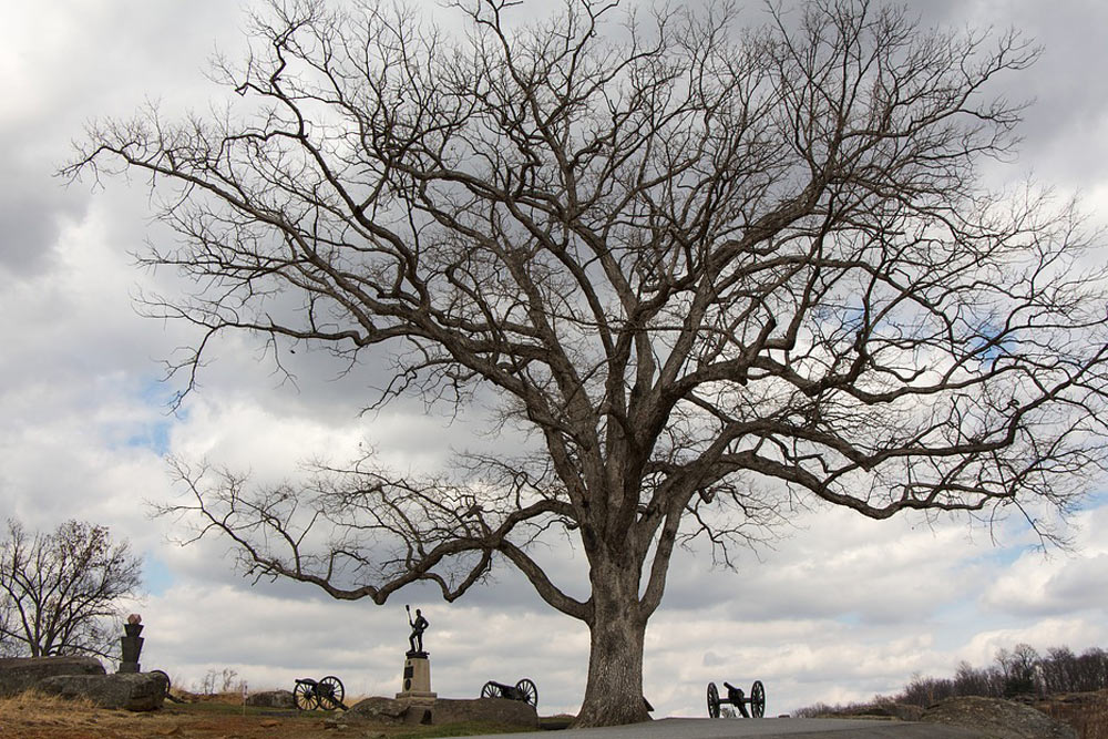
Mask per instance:
[[[728,3],[449,4],[463,31],[278,0],[216,65],[242,100],[100,123],[68,173],[165,194],[183,239],[140,258],[193,289],[144,305],[202,327],[172,363],[188,388],[213,337],[250,332],[278,362],[387,361],[377,403],[495,398],[534,453],[269,489],[178,461],[177,510],[336,598],[453,601],[514,565],[588,626],[578,725],[647,718],[644,632],[684,537],[729,562],[819,501],[1055,535],[1043,506],[1102,470],[1108,330],[1078,212],[983,185],[1020,112],[995,78],[1036,49],[865,0],[748,28]],[[587,598],[534,558],[553,535],[579,540]]]

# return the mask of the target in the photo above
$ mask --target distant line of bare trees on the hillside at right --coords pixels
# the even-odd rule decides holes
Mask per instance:
[[[994,664],[974,667],[963,660],[954,677],[914,676],[895,696],[878,696],[874,704],[907,704],[926,708],[947,698],[984,696],[1014,698],[1022,695],[1047,696],[1058,692],[1089,692],[1108,688],[1108,651],[1092,647],[1080,655],[1069,647],[1051,647],[1046,656],[1034,647],[1018,644],[999,649]],[[793,711],[796,717],[849,712],[861,706],[815,704]]]

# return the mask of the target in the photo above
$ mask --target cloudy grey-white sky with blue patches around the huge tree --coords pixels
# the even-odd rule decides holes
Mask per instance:
[[[174,522],[148,517],[147,501],[176,494],[163,461],[170,452],[280,475],[290,461],[367,440],[401,465],[435,464],[471,433],[414,406],[360,417],[368,396],[357,377],[332,381],[334,368],[307,358],[295,368],[297,384],[283,383],[248,339],[222,342],[201,390],[166,414],[177,387],[158,382],[158,360],[191,335],[136,316],[133,295],[158,277],[135,269],[129,252],[167,235],[151,224],[137,183],[65,187],[52,173],[90,119],[126,116],[147,100],[203,111],[225,99],[204,71],[217,48],[240,55],[253,1],[4,3],[0,513],[32,530],[79,517],[129,538],[148,586],[136,606],[147,625],[143,667],[184,687],[229,667],[250,689],[334,674],[348,694],[392,695],[410,603],[431,622],[440,696],[475,697],[485,680],[530,677],[543,714],[574,711],[587,634],[510,572],[454,604],[427,591],[380,607],[335,603],[308,586],[252,585],[232,571],[224,545],[181,548]],[[1005,81],[1013,96],[1037,104],[1018,160],[997,176],[1032,173],[1060,195],[1081,193],[1104,223],[1108,4],[943,0],[917,9],[955,25],[1014,24],[1045,47],[1035,68]],[[655,716],[702,715],[709,680],[761,679],[777,715],[894,692],[913,674],[951,675],[962,659],[982,666],[1020,642],[1108,647],[1108,495],[1092,493],[1074,516],[1074,554],[1044,557],[1016,525],[994,537],[964,521],[879,523],[820,511],[798,519],[773,548],[745,555],[738,572],[681,555],[647,635]],[[550,556],[560,568],[581,564],[579,554]]]

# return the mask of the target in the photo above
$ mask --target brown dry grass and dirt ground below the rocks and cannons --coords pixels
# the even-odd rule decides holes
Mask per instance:
[[[239,699],[240,704],[240,699]],[[495,731],[495,726],[411,727],[346,720],[341,711],[275,710],[227,701],[166,702],[134,714],[24,694],[0,700],[0,739],[417,739]],[[506,727],[501,727],[506,730]],[[519,729],[514,729],[519,730]]]

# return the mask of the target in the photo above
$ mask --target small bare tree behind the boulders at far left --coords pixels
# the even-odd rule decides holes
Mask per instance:
[[[104,526],[68,521],[31,536],[9,520],[0,541],[0,644],[13,656],[115,657],[117,602],[141,585],[142,561]]]

